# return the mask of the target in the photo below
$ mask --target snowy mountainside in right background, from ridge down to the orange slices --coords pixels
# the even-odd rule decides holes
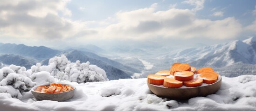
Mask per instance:
[[[212,67],[227,77],[255,75],[256,37],[199,48],[170,50],[155,57],[144,57],[144,60],[151,62],[154,67],[144,71],[142,78],[159,70],[169,70],[174,62],[189,63],[196,68]]]

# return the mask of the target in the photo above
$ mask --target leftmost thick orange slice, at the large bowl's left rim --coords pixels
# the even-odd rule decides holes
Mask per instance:
[[[156,74],[149,74],[147,75],[147,81],[153,85],[163,85],[164,84],[165,76],[156,75]]]

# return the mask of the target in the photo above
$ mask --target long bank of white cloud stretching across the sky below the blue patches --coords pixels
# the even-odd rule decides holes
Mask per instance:
[[[67,19],[62,14],[71,16],[72,13],[66,7],[67,2],[61,0],[4,2],[9,7],[0,4],[0,37],[84,43],[89,40],[158,40],[159,37],[228,39],[241,33],[242,25],[233,17],[197,18],[195,11],[203,8],[204,1],[192,1],[187,1],[196,6],[191,10],[173,7],[156,11],[158,4],[155,3],[146,8],[117,12],[102,21]],[[31,5],[31,2],[35,3]]]

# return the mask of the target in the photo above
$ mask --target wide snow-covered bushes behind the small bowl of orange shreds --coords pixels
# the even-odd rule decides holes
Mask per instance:
[[[37,71],[47,71],[56,79],[77,83],[108,80],[106,72],[102,68],[90,65],[90,62],[80,63],[78,60],[75,63],[70,62],[64,55],[49,59],[48,66],[41,66],[41,64],[32,66],[30,73]],[[33,80],[33,78],[31,79]]]

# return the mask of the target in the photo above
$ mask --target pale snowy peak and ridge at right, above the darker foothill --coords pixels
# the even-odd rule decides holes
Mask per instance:
[[[205,66],[221,68],[236,62],[256,64],[256,47],[252,45],[256,43],[255,39],[256,37],[251,37],[244,42],[235,40],[201,48],[184,49],[159,58],[186,62],[199,68]]]

